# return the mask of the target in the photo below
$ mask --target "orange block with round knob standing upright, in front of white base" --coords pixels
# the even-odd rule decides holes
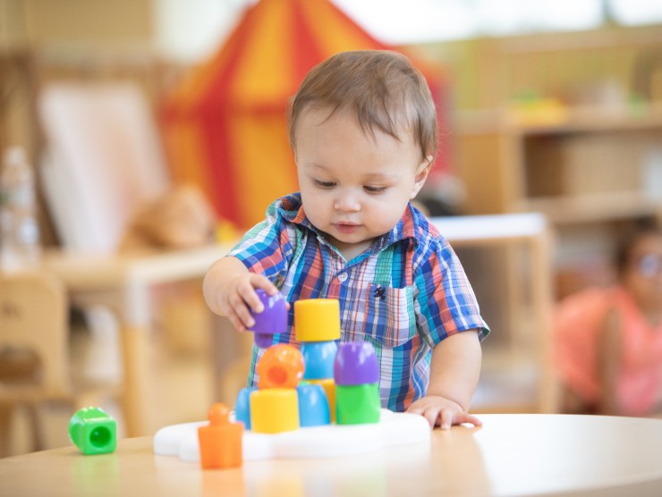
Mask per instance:
[[[242,466],[243,425],[230,422],[230,409],[216,403],[208,413],[209,424],[199,426],[200,465],[204,469]]]

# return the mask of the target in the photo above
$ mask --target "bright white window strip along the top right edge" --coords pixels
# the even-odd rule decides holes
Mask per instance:
[[[392,44],[509,36],[662,21],[659,0],[332,0],[375,38]]]

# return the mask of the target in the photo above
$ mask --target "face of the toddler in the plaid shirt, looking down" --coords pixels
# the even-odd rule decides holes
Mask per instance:
[[[432,157],[420,160],[410,133],[398,141],[366,134],[352,114],[308,109],[296,129],[297,173],[310,222],[346,258],[393,229],[425,182]]]

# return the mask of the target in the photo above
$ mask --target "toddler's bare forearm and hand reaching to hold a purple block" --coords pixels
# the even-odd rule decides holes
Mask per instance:
[[[217,260],[205,274],[202,291],[209,308],[219,316],[227,316],[240,332],[246,331],[255,322],[251,309],[262,312],[263,305],[256,288],[275,295],[278,289],[262,274],[250,273],[236,257]]]

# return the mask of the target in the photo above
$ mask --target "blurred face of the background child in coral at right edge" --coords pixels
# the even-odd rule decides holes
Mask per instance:
[[[662,236],[645,236],[632,248],[624,284],[642,307],[662,308]]]

